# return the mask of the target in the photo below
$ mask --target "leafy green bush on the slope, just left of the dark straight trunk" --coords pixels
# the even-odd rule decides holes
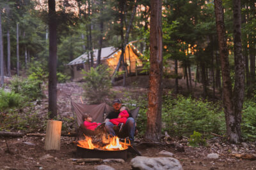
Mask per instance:
[[[11,81],[10,87],[12,92],[20,94],[20,96],[24,97],[27,101],[35,101],[36,99],[43,97],[40,80],[15,77]]]

